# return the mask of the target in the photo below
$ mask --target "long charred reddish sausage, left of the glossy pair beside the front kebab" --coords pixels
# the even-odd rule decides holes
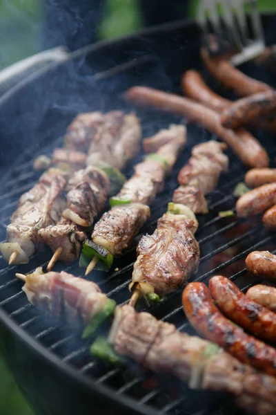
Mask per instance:
[[[276,350],[224,317],[203,283],[188,284],[182,295],[182,304],[188,320],[201,335],[219,344],[241,362],[276,376]]]

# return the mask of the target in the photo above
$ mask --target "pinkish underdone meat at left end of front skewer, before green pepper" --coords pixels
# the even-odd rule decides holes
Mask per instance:
[[[38,268],[26,275],[23,286],[28,300],[52,317],[63,314],[69,324],[77,325],[82,320],[88,324],[92,317],[103,309],[108,297],[101,293],[97,284],[68,273],[42,273]]]

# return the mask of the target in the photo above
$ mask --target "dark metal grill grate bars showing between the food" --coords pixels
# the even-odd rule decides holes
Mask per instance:
[[[165,127],[171,122],[179,121],[179,118],[172,116],[164,117],[164,114],[158,111],[145,113],[141,110],[141,114],[138,113],[138,115],[143,120],[144,136],[154,133],[155,125]],[[191,147],[203,138],[201,129],[188,127],[188,146],[179,157],[164,192],[153,203],[150,220],[135,238],[135,243],[128,252],[115,261],[114,269],[118,267],[119,271],[112,270],[108,275],[99,272],[92,273],[90,278],[101,286],[104,293],[114,298],[117,304],[124,304],[130,297],[128,284],[133,261],[135,261],[135,247],[139,239],[145,232],[150,233],[155,229],[157,219],[166,210],[166,204],[177,187],[179,168],[186,163]],[[41,142],[45,144],[41,145],[39,154],[49,154],[54,143],[49,145],[43,137],[41,137]],[[55,145],[61,145],[61,142],[62,138],[59,138],[55,141]],[[28,149],[3,178],[0,196],[0,224],[3,230],[16,207],[19,196],[37,181],[38,174],[32,170],[33,154],[35,154],[35,149]],[[273,163],[275,155],[276,149],[271,155]],[[208,279],[215,273],[222,273],[246,290],[248,286],[255,284],[255,277],[248,275],[244,268],[246,255],[253,249],[273,250],[276,239],[273,234],[264,230],[262,223],[257,219],[248,221],[237,219],[235,216],[219,216],[219,211],[235,208],[232,192],[235,185],[244,179],[244,167],[230,151],[228,156],[230,156],[230,171],[221,177],[217,190],[208,196],[210,212],[199,217],[197,240],[201,248],[201,259],[199,270],[191,279],[208,282]],[[126,170],[126,174],[130,176],[131,168]],[[5,237],[4,232],[1,237],[2,239]],[[207,415],[213,413],[215,408],[221,405],[221,396],[217,394],[190,391],[176,380],[172,380],[168,385],[168,379],[156,378],[149,371],[137,367],[135,363],[129,362],[126,367],[115,368],[103,366],[101,362],[92,360],[89,356],[89,343],[80,340],[80,333],[72,331],[64,324],[57,324],[46,315],[39,313],[28,303],[26,295],[21,291],[22,283],[14,277],[16,272],[29,273],[37,266],[45,266],[46,259],[48,261],[50,255],[50,250],[38,252],[29,264],[21,266],[20,269],[17,266],[7,267],[3,259],[0,259],[0,306],[21,328],[83,376],[110,387],[117,395],[134,399],[139,407],[146,405],[161,414]],[[56,269],[64,269],[64,266],[57,264]],[[83,270],[78,268],[77,264],[66,267],[66,271],[83,276]],[[160,304],[152,306],[150,312],[159,319],[176,324],[181,331],[195,333],[182,311],[180,290],[168,295]],[[230,407],[229,411],[232,411],[229,414],[235,413],[233,407]]]

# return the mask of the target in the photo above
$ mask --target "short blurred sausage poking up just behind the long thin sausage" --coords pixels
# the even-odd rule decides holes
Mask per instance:
[[[226,100],[213,92],[197,71],[186,71],[182,75],[181,86],[184,93],[192,100],[201,102],[201,104],[219,113],[232,104],[232,101]]]

